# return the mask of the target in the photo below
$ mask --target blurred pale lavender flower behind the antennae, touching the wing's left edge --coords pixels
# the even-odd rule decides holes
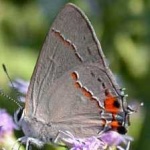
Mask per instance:
[[[11,84],[10,86],[12,87]],[[15,87],[16,90],[18,90],[20,94],[23,95],[19,97],[20,101],[25,102],[25,95],[29,87],[29,82],[18,78],[15,81],[13,81],[13,86]]]

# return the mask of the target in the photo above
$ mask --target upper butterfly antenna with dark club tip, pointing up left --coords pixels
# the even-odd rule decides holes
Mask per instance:
[[[8,80],[9,80],[9,82],[10,82],[10,84],[11,84],[13,90],[16,91],[17,99],[19,99],[19,101],[21,101],[21,100],[20,100],[20,93],[18,93],[17,89],[15,88],[15,86],[14,86],[14,84],[13,84],[13,82],[12,82],[12,80],[11,80],[9,74],[8,74],[8,71],[7,71],[7,68],[6,68],[5,64],[2,64],[2,67],[3,67],[4,72],[5,72],[6,75],[7,75],[7,78],[8,78]],[[3,94],[4,94],[4,92],[3,92]],[[9,97],[9,96],[8,96],[8,97]]]

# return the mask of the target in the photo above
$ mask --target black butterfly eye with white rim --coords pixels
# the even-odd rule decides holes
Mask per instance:
[[[19,108],[15,114],[14,114],[14,121],[16,123],[16,125],[20,126],[21,125],[21,120],[23,118],[24,115],[24,109],[23,108]]]

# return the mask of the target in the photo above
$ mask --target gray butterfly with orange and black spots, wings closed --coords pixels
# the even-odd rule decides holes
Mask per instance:
[[[42,146],[60,138],[125,134],[132,110],[116,83],[96,34],[84,13],[67,4],[52,24],[15,121],[18,141]]]

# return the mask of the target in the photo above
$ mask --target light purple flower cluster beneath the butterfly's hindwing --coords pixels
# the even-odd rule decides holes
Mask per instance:
[[[120,148],[120,144],[127,147],[132,138],[126,135],[123,136],[116,131],[107,131],[97,137],[89,138],[75,138],[72,134],[68,134],[68,138],[63,138],[62,141],[70,150],[105,150],[113,146]]]

